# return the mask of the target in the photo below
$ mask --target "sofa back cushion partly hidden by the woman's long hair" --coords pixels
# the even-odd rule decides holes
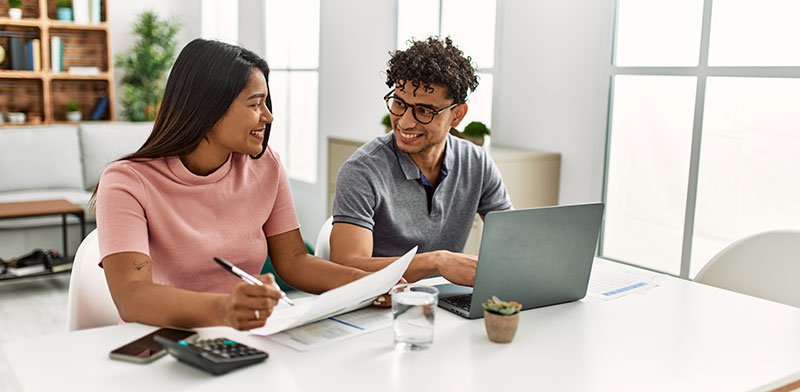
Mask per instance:
[[[83,148],[83,189],[93,191],[106,165],[130,154],[144,144],[151,122],[83,123],[80,128]]]

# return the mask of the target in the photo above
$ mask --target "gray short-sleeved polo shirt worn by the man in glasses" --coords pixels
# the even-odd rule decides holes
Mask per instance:
[[[443,172],[428,211],[421,172],[398,150],[394,133],[365,144],[342,165],[333,200],[333,222],[372,230],[372,255],[462,252],[475,213],[511,208],[500,172],[486,152],[447,136]]]

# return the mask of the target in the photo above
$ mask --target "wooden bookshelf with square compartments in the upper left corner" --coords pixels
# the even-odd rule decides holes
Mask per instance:
[[[110,53],[108,28],[108,0],[86,1],[99,4],[100,22],[94,24],[62,21],[57,18],[56,0],[22,0],[22,19],[8,17],[8,2],[0,1],[0,45],[6,58],[0,62],[0,114],[25,113],[24,123],[9,122],[0,126],[64,123],[67,102],[78,102],[82,121],[90,121],[91,114],[102,99],[108,105],[99,120],[116,120],[113,61]],[[73,4],[73,9],[75,5]],[[27,42],[39,40],[39,70],[12,69],[11,37]],[[54,72],[51,58],[51,38],[62,42],[61,72]],[[90,75],[73,75],[70,67],[96,67],[99,72]]]

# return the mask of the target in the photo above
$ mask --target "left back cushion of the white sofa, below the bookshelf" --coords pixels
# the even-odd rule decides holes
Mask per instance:
[[[78,127],[0,128],[0,192],[83,187]]]

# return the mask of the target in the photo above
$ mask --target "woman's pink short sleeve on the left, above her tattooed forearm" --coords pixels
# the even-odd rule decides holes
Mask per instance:
[[[124,163],[109,165],[97,190],[97,236],[100,266],[106,256],[120,252],[150,255],[147,195],[139,176]]]

